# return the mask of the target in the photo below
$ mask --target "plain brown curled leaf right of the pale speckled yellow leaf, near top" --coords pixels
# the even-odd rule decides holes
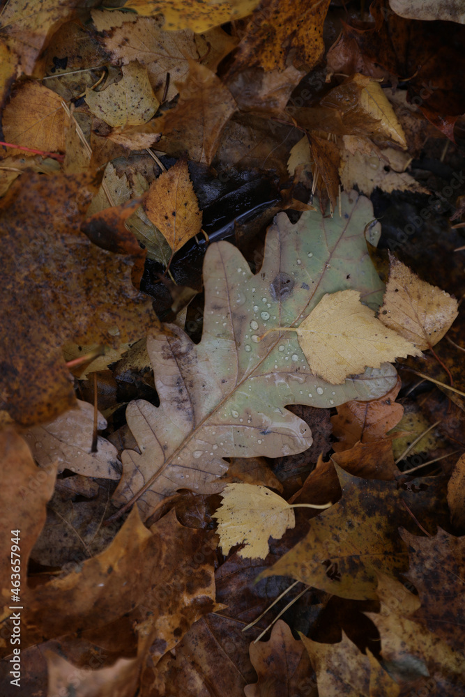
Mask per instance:
[[[162,134],[158,147],[170,154],[187,150],[191,160],[210,164],[222,130],[235,110],[231,92],[215,73],[190,63],[189,75],[179,85],[178,103],[153,123]],[[197,117],[195,129],[190,128],[192,114]]]

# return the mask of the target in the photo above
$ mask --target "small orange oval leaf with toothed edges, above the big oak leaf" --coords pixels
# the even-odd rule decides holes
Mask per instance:
[[[185,160],[178,160],[155,179],[144,201],[144,210],[165,236],[172,254],[200,232],[202,214]]]

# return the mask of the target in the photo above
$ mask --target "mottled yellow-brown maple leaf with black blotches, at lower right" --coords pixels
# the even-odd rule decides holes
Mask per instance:
[[[398,488],[397,482],[362,480],[337,468],[342,499],[308,521],[306,537],[259,575],[291,576],[342,598],[376,598],[378,571],[405,572],[407,556],[397,529],[411,525],[406,502],[420,515],[434,511],[433,480],[421,491]],[[422,482],[426,483],[427,478]],[[425,506],[421,514],[418,507]],[[433,523],[434,524],[434,523]]]

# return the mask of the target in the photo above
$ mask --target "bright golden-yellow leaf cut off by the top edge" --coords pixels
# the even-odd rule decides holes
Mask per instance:
[[[165,29],[192,29],[207,31],[224,22],[239,20],[250,15],[259,0],[128,0],[125,7],[137,10],[139,15],[165,15]]]

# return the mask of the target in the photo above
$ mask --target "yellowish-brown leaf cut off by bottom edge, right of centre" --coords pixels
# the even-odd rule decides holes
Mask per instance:
[[[321,644],[301,635],[310,660],[317,673],[319,694],[346,695],[347,697],[372,697],[384,695],[397,697],[397,685],[367,650],[360,649],[342,632],[337,644]]]

